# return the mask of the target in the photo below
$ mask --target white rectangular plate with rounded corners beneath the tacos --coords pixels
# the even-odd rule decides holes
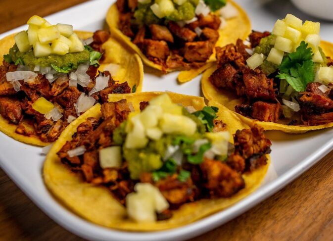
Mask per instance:
[[[95,31],[102,28],[108,7],[114,0],[93,0],[66,9],[47,17],[51,23],[65,22],[74,25],[75,29]],[[308,17],[300,14],[288,1],[277,0],[237,0],[252,19],[252,25],[257,30],[270,30],[277,18],[283,18],[287,12],[296,13],[303,19]],[[279,4],[278,4],[278,3]],[[22,30],[14,29],[0,35]],[[333,40],[332,24],[322,24],[323,39]],[[157,77],[145,74],[144,91],[173,91],[183,94],[200,95],[200,77],[178,85],[177,73]],[[26,193],[44,212],[58,224],[89,240],[113,241],[175,241],[190,239],[212,230],[223,223],[245,212],[268,196],[276,193],[291,182],[310,166],[320,160],[333,147],[333,130],[312,132],[305,135],[286,135],[280,132],[270,132],[273,140],[272,160],[277,177],[268,180],[255,193],[239,201],[234,206],[201,219],[190,225],[173,230],[151,233],[128,233],[110,230],[92,224],[76,216],[61,206],[46,189],[42,179],[42,166],[45,156],[41,148],[21,144],[0,133],[0,166],[9,177]],[[28,220],[27,220],[28,221]]]

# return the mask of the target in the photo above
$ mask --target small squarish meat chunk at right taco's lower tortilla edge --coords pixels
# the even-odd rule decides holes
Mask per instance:
[[[281,115],[281,104],[257,101],[253,103],[252,118],[265,122],[278,122]]]

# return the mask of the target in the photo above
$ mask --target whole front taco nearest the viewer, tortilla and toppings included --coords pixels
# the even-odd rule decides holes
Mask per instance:
[[[271,142],[263,129],[223,106],[157,92],[109,100],[73,121],[44,164],[49,191],[91,222],[176,228],[233,205],[267,172]]]

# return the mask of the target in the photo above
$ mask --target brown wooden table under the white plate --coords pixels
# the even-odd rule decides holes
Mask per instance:
[[[0,33],[85,0],[1,0]],[[42,2],[42,3],[41,3]],[[283,190],[193,241],[332,240],[333,152]],[[0,170],[0,240],[81,240],[46,216]]]

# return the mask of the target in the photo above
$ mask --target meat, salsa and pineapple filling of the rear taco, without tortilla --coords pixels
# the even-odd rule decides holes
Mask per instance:
[[[203,66],[238,9],[226,0],[117,0],[118,28],[162,70]]]

